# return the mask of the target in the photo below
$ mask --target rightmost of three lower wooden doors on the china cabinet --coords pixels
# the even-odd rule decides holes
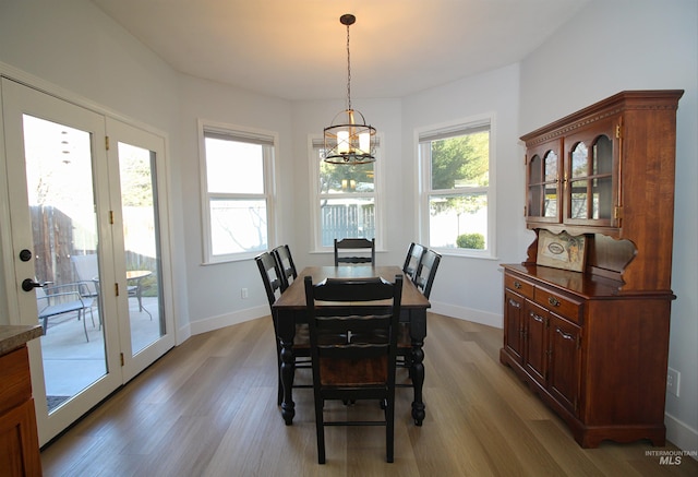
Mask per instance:
[[[549,391],[558,403],[577,415],[581,329],[551,312],[549,339],[551,351]]]

